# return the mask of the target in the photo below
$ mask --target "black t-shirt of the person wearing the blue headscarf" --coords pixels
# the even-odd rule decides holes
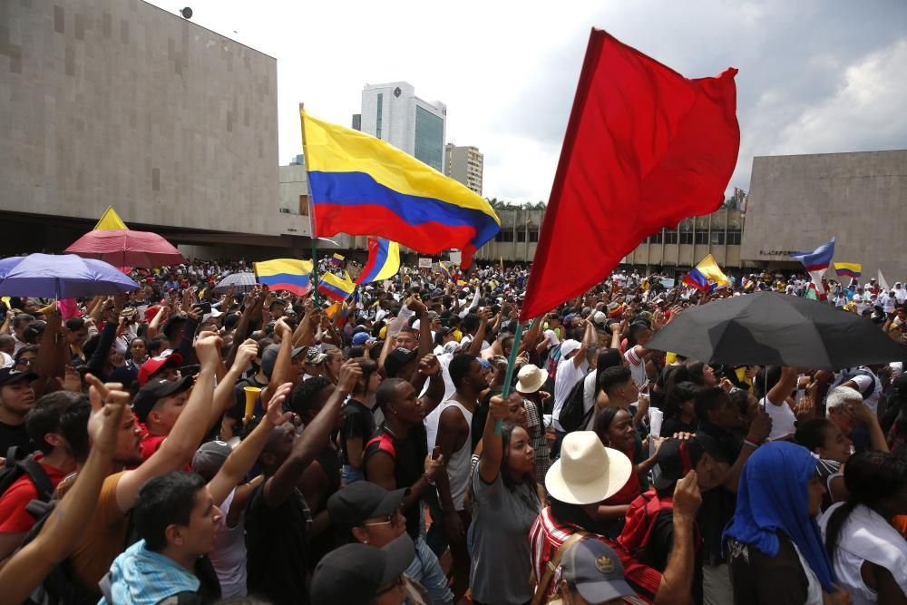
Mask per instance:
[[[769,557],[753,546],[727,541],[727,561],[735,605],[803,605],[809,581],[794,545],[777,532],[778,554]]]

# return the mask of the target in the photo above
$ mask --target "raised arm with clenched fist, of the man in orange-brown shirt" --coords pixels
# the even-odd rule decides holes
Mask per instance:
[[[201,369],[186,407],[173,424],[171,433],[164,439],[161,448],[151,454],[151,458],[139,468],[123,474],[117,483],[116,502],[123,513],[132,508],[139,488],[151,477],[178,471],[190,464],[192,455],[208,429],[211,400],[214,397],[214,370],[220,363],[220,346],[220,337],[210,332],[203,333],[196,341],[195,352]]]

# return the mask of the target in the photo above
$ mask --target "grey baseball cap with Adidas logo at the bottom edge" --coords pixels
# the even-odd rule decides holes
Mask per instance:
[[[588,603],[635,595],[623,573],[617,553],[595,538],[576,542],[561,559],[561,578]]]

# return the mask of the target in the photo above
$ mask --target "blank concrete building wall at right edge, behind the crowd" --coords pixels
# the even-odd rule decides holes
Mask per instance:
[[[881,268],[893,285],[907,276],[905,206],[907,151],[757,157],[741,254],[781,267],[836,236],[834,260],[862,263],[863,281]]]

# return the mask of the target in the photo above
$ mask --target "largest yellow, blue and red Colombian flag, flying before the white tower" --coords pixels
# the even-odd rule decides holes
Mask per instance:
[[[424,254],[476,249],[501,230],[491,205],[385,141],[300,110],[315,237],[380,235]]]

